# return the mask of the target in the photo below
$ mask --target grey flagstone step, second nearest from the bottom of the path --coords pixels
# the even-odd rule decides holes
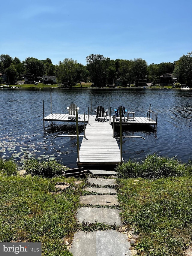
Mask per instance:
[[[109,208],[81,207],[77,211],[77,219],[80,223],[104,223],[107,225],[122,226],[119,216],[121,210]]]

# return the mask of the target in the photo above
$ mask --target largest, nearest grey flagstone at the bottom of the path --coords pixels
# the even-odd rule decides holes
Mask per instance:
[[[84,232],[74,235],[70,252],[73,256],[131,256],[128,236],[116,230]]]

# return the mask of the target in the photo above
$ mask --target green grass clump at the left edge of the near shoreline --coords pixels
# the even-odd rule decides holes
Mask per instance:
[[[17,168],[16,164],[13,162],[12,159],[4,160],[0,158],[0,174],[5,176],[16,175]]]

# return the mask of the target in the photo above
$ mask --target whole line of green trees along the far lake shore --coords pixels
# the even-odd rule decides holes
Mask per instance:
[[[58,83],[67,86],[90,80],[96,87],[105,86],[106,83],[113,84],[120,77],[124,85],[130,86],[135,83],[138,86],[138,81],[146,76],[147,82],[155,85],[161,75],[168,73],[177,77],[178,82],[191,86],[192,52],[183,55],[173,63],[162,62],[150,65],[147,65],[147,62],[141,58],[113,60],[100,54],[87,56],[86,65],[70,58],[53,65],[49,58],[39,60],[27,57],[24,61],[20,61],[18,57],[12,58],[8,54],[1,54],[0,73],[6,73],[10,83],[22,80],[26,73],[32,73],[35,77],[55,75]]]

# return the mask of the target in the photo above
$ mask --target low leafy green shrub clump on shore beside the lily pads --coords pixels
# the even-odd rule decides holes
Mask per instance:
[[[38,161],[35,158],[30,158],[26,161],[24,169],[27,173],[30,173],[32,176],[44,176],[47,178],[52,178],[54,176],[59,176],[64,173],[66,169],[61,164],[58,164],[56,161]]]

